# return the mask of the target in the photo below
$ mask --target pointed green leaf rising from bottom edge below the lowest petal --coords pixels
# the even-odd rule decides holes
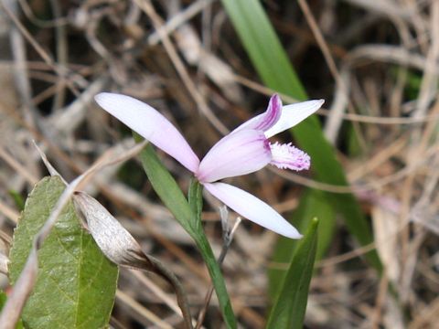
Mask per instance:
[[[270,313],[267,328],[302,328],[313,276],[317,249],[318,220],[314,218],[294,252],[279,294]]]

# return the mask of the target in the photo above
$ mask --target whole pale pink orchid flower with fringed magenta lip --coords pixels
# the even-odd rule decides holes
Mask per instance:
[[[201,161],[177,128],[151,106],[129,96],[107,92],[96,95],[95,100],[105,111],[183,164],[210,194],[243,218],[288,238],[302,237],[273,207],[238,187],[217,181],[250,174],[267,164],[295,171],[308,169],[308,154],[291,143],[270,143],[268,138],[305,120],[322,106],[323,100],[283,107],[275,94],[267,111],[221,138]]]

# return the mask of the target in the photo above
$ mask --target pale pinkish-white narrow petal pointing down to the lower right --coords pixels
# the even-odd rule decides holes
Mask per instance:
[[[252,196],[241,188],[230,186],[224,183],[208,183],[204,187],[210,194],[216,196],[226,206],[230,207],[243,218],[268,228],[274,232],[291,239],[300,239],[302,235],[283,218],[273,207]]]

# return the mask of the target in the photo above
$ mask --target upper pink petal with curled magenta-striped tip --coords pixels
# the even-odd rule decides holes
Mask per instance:
[[[265,132],[274,123],[279,121],[282,113],[282,100],[278,94],[274,94],[268,103],[267,111],[255,116],[254,118],[242,123],[232,133],[239,132],[243,129],[253,129]]]

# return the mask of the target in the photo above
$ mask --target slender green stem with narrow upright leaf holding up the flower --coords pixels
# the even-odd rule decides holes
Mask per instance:
[[[134,139],[136,142],[141,141],[141,137],[135,133]],[[193,190],[189,193],[190,196],[193,196],[192,199],[194,200],[191,200],[191,206],[189,206],[189,203],[181,189],[178,187],[176,180],[160,162],[151,144],[145,146],[145,149],[140,154],[140,159],[144,166],[145,173],[155,189],[155,193],[160,197],[169,211],[171,211],[178,223],[180,223],[180,225],[187,230],[187,233],[192,239],[195,240],[201,256],[208,267],[210,278],[215,287],[215,292],[217,292],[219,306],[221,313],[224,316],[224,321],[228,328],[236,328],[237,324],[235,315],[231,309],[229,293],[227,292],[224,278],[219,269],[219,264],[217,260],[215,260],[215,256],[213,255],[209,241],[206,238],[201,225],[199,225],[199,218],[197,218],[197,215],[192,210],[192,208],[197,210],[197,207],[199,207],[199,199],[198,201],[195,201],[196,199],[194,196],[200,196],[200,186],[193,187]]]

